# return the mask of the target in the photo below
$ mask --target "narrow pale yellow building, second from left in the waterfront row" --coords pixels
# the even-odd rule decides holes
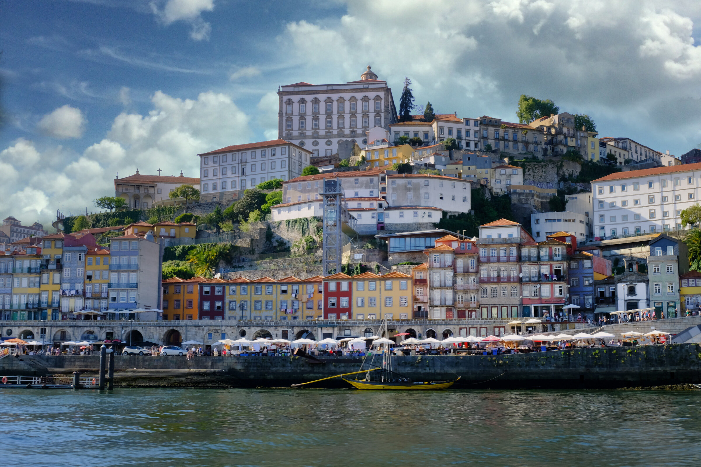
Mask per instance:
[[[12,254],[12,310],[13,320],[42,319],[39,303],[41,282],[41,247],[29,246]],[[46,316],[43,316],[46,319]]]

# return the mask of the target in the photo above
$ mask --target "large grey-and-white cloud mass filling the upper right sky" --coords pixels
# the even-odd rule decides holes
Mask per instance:
[[[287,24],[278,46],[280,57],[297,66],[290,82],[351,81],[370,64],[393,85],[395,102],[409,76],[416,102],[430,100],[445,113],[513,121],[519,95],[528,94],[590,113],[600,130],[614,127],[641,142],[653,139],[651,128],[665,130],[672,145],[701,138],[700,112],[679,106],[701,95],[701,46],[693,39],[700,2],[433,0],[426,8],[406,0],[397,8],[393,0],[358,0],[346,6],[339,19]]]

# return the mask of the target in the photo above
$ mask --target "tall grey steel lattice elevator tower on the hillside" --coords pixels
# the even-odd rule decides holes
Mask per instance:
[[[343,189],[339,179],[324,179],[324,259],[322,275],[341,272],[341,228],[343,224]]]

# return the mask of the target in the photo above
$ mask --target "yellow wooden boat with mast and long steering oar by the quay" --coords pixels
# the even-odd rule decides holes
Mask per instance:
[[[386,320],[384,325],[385,331],[387,331]],[[385,335],[387,335],[387,332]],[[365,364],[365,361],[363,364]],[[356,389],[362,389],[364,391],[439,391],[440,389],[449,388],[458,379],[460,379],[458,376],[456,379],[443,381],[414,381],[413,379],[404,377],[404,375],[400,375],[392,370],[392,356],[390,355],[389,349],[386,349],[386,351],[383,352],[382,366],[373,366],[375,366],[375,368],[369,368],[367,370],[360,370],[351,373],[343,373],[342,375],[335,375],[322,379],[315,379],[314,381],[306,383],[292,384],[292,386],[304,386],[305,384],[311,384],[318,381],[323,381],[325,379],[333,379],[349,375],[360,375],[361,373],[365,373],[365,379],[343,378],[343,381],[351,384]],[[360,365],[360,368],[362,368],[362,365]]]

